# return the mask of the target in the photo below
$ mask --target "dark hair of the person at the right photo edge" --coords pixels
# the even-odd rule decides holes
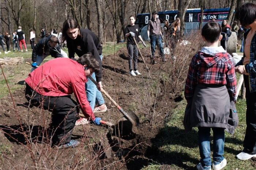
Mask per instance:
[[[248,26],[256,19],[256,4],[246,3],[236,12],[236,18],[243,26]]]

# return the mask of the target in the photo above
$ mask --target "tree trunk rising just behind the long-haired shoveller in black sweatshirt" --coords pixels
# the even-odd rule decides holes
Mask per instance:
[[[102,18],[102,10],[101,10],[101,1],[95,0],[96,8],[97,8],[97,16],[98,16],[98,38],[99,42],[102,44],[104,42],[104,36],[103,36],[103,18]]]

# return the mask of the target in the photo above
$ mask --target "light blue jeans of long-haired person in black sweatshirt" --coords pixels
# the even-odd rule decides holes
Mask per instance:
[[[102,61],[102,55],[99,55],[99,57],[101,57]],[[96,81],[95,73],[93,73],[91,77]],[[89,78],[85,84],[85,90],[87,100],[89,101],[92,110],[94,110],[95,102],[98,105],[102,105],[105,103],[101,92],[97,89],[97,86]]]

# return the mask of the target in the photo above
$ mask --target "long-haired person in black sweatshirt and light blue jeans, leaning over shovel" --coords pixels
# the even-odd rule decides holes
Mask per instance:
[[[90,103],[91,109],[94,113],[105,112],[107,107],[100,91],[102,91],[102,46],[99,42],[98,37],[90,30],[80,28],[78,23],[73,19],[68,19],[63,23],[62,28],[62,42],[67,41],[68,57],[75,60],[75,53],[78,57],[84,54],[91,53],[99,62],[100,71],[99,73],[92,74],[92,78],[97,81],[97,86],[91,80],[86,82],[86,96]],[[97,90],[98,88],[98,90]],[[95,107],[95,102],[98,107]],[[84,118],[80,118],[76,125],[81,125],[86,122]]]

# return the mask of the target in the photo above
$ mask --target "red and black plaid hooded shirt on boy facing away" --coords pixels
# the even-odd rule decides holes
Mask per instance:
[[[185,84],[185,98],[191,100],[198,83],[226,85],[230,100],[236,101],[236,74],[229,53],[198,52],[191,60]]]

